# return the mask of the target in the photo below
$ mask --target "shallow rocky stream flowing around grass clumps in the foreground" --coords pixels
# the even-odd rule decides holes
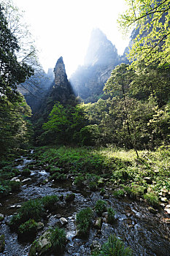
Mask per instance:
[[[33,153],[33,152],[32,152]],[[28,157],[20,157],[16,159],[18,162],[18,170],[23,170],[28,163],[35,162],[34,159]],[[167,214],[163,211],[158,214],[151,214],[143,202],[134,202],[127,197],[117,199],[112,197],[107,189],[109,199],[108,205],[116,212],[116,221],[114,225],[103,222],[101,230],[95,227],[90,228],[89,236],[86,240],[82,240],[75,236],[75,217],[80,209],[87,206],[94,207],[98,199],[103,199],[99,192],[91,192],[84,187],[77,189],[73,184],[73,177],[69,176],[64,182],[43,182],[50,176],[43,166],[33,167],[31,176],[27,181],[23,181],[26,177],[18,176],[23,181],[20,192],[15,192],[1,200],[0,213],[4,214],[4,220],[0,222],[0,235],[5,236],[5,249],[0,256],[28,256],[31,243],[18,241],[18,235],[9,230],[7,222],[18,211],[23,202],[36,197],[45,195],[58,195],[66,197],[67,194],[73,192],[75,199],[72,203],[61,201],[58,210],[47,216],[45,227],[40,230],[37,237],[41,236],[49,227],[55,227],[61,217],[66,218],[67,224],[63,227],[66,230],[68,243],[63,256],[90,256],[91,244],[103,244],[107,241],[110,234],[115,234],[120,238],[125,246],[131,247],[136,256],[169,256],[170,255],[170,232],[169,225],[163,222],[163,218],[167,218]],[[58,255],[58,254],[57,254]],[[51,254],[50,256],[55,256]]]

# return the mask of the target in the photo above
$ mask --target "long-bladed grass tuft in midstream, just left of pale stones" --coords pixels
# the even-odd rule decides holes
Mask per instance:
[[[77,230],[80,235],[87,236],[92,222],[93,211],[91,208],[84,208],[76,215]]]

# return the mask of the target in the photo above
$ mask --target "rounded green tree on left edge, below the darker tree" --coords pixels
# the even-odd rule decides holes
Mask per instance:
[[[32,130],[27,121],[31,116],[31,108],[26,104],[21,94],[18,102],[0,104],[0,153],[4,154],[10,148],[18,148],[28,143]]]

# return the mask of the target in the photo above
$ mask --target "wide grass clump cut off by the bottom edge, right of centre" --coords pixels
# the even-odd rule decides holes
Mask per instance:
[[[130,248],[125,248],[122,241],[116,236],[109,236],[109,240],[103,244],[99,252],[94,252],[93,256],[132,256]]]

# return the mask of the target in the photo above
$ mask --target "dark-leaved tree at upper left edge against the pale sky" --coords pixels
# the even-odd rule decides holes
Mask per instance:
[[[33,69],[24,61],[19,62],[16,52],[18,40],[8,29],[7,20],[0,5],[0,103],[20,100],[17,86],[34,74]]]

